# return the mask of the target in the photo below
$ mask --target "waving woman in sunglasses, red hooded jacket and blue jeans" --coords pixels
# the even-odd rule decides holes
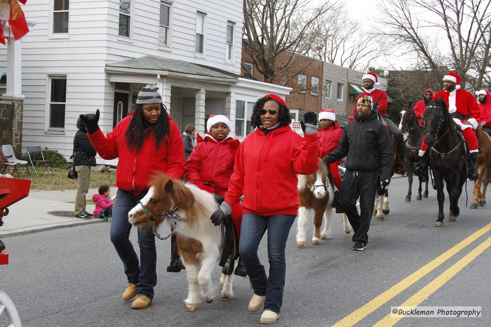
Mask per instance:
[[[239,146],[225,201],[211,217],[219,225],[244,195],[239,252],[254,290],[248,309],[255,312],[264,305],[261,324],[279,319],[285,246],[299,209],[297,174],[310,175],[319,168],[315,113],[304,115],[304,138],[289,125],[288,105],[279,96],[268,94],[256,101],[251,126],[257,128]],[[257,255],[266,231],[269,277]]]

